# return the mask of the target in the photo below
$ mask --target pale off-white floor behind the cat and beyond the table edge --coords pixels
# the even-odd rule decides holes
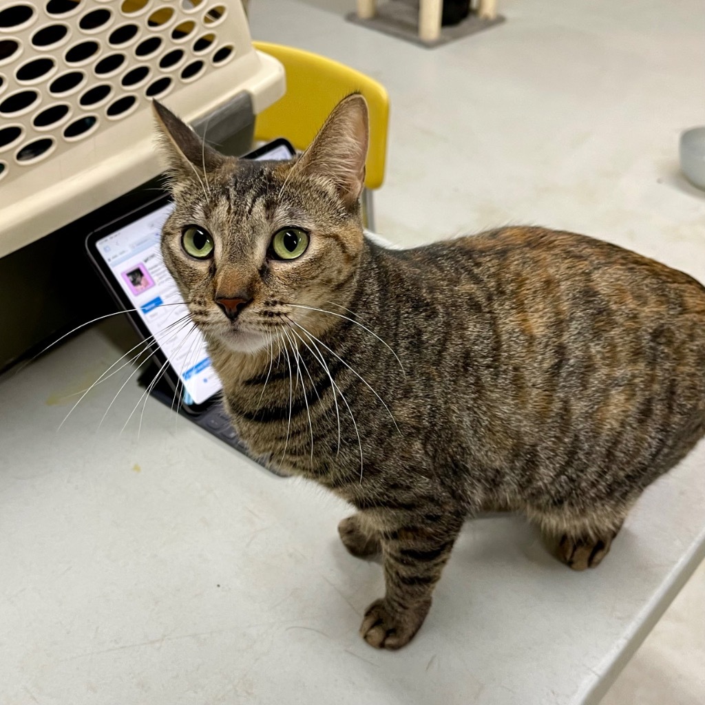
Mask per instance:
[[[344,23],[353,5],[252,0],[251,27],[386,86],[381,234],[417,244],[540,223],[697,272],[705,193],[678,173],[678,135],[705,124],[700,0],[501,0],[505,24],[433,51]],[[703,703],[703,663],[705,566],[603,704]]]

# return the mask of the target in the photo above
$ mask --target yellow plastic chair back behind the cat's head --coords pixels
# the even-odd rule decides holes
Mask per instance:
[[[389,96],[373,78],[338,61],[310,51],[269,42],[252,42],[255,49],[278,59],[286,71],[286,94],[257,116],[256,140],[286,137],[296,149],[306,149],[336,104],[360,92],[369,106],[369,151],[362,192],[364,225],[374,230],[371,189],[384,181]]]

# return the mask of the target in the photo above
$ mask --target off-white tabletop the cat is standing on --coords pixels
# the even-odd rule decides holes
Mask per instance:
[[[596,570],[523,520],[468,522],[402,651],[357,635],[381,566],[345,505],[262,470],[134,378],[70,396],[128,348],[114,321],[0,379],[0,701],[596,703],[705,556],[705,445],[651,486]],[[123,378],[124,379],[124,378]]]

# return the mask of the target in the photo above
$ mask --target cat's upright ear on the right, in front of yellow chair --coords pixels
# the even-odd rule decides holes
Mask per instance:
[[[367,101],[360,93],[341,100],[309,148],[293,166],[293,173],[332,181],[346,206],[360,198],[369,144]]]

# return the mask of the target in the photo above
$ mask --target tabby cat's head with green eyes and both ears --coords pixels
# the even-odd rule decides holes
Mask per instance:
[[[176,207],[161,250],[193,321],[211,341],[254,352],[345,304],[362,252],[367,104],[333,109],[306,152],[285,162],[226,157],[154,102]],[[284,332],[286,331],[286,333]]]

